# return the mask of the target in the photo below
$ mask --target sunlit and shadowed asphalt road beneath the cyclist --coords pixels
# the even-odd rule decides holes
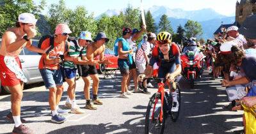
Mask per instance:
[[[102,77],[102,76],[100,76]],[[104,105],[98,105],[97,110],[84,109],[85,114],[67,114],[63,124],[51,123],[48,104],[48,91],[44,84],[26,86],[22,100],[22,117],[27,125],[36,133],[144,133],[145,112],[148,98],[151,95],[137,93],[131,98],[119,98],[120,79],[100,78],[99,97]],[[194,89],[182,78],[182,103],[179,119],[170,123],[166,133],[234,133],[242,130],[243,111],[230,112],[223,110],[228,104],[225,88],[220,80],[211,80],[207,73],[198,80]],[[85,105],[83,96],[83,80],[77,80],[76,99],[82,108]],[[61,98],[61,107],[67,96]],[[157,89],[149,89],[152,93]],[[13,123],[6,121],[5,115],[10,111],[10,95],[0,96],[0,133],[11,133]]]

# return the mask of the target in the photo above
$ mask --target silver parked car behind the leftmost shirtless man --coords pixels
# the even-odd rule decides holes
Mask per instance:
[[[0,46],[1,46],[1,39],[0,39]],[[32,45],[37,47],[38,40],[33,40]],[[33,84],[36,82],[42,82],[43,79],[41,77],[40,71],[38,70],[38,63],[40,61],[41,56],[36,52],[29,51],[26,47],[22,49],[19,55],[20,63],[22,65],[22,71],[26,78],[28,78],[28,82],[26,84]],[[0,81],[1,85],[1,81]],[[0,87],[0,93],[10,93],[8,87]]]

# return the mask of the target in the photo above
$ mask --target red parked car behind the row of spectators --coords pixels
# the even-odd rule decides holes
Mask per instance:
[[[97,64],[96,68],[100,74],[104,73],[104,71],[108,68],[112,68],[112,69],[118,68],[118,64],[117,64],[118,56],[115,56],[115,52],[113,50],[106,48],[104,52],[104,57],[105,59],[109,59],[109,61],[111,61],[111,63],[113,64]],[[97,56],[95,59],[99,59],[99,56]]]

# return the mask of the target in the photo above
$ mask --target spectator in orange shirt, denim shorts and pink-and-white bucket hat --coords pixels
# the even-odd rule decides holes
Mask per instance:
[[[68,35],[72,33],[67,24],[58,24],[55,29],[53,46],[50,54],[42,54],[39,61],[39,70],[44,80],[46,89],[49,89],[49,105],[51,107],[54,123],[63,123],[66,119],[60,114],[67,114],[67,110],[58,107],[63,93],[63,77],[60,70],[60,56],[64,54]],[[42,41],[41,48],[45,49],[51,46],[50,38]]]

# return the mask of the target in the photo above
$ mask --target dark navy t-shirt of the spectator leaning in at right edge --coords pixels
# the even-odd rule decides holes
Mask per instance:
[[[256,57],[244,57],[241,63],[241,69],[245,76],[252,82],[256,80]]]

